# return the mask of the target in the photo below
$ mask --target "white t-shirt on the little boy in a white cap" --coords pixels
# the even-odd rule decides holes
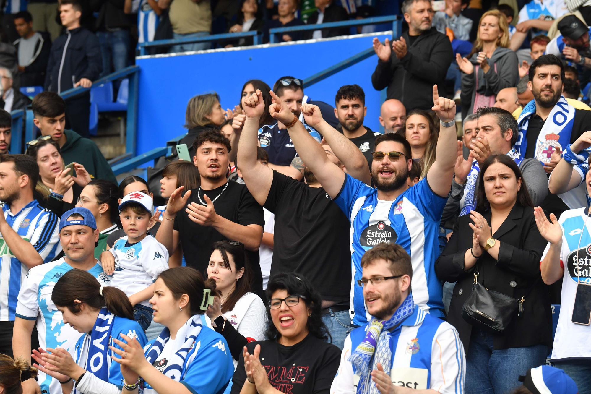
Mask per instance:
[[[129,297],[144,290],[161,272],[168,269],[168,250],[154,237],[144,237],[135,244],[127,243],[127,236],[116,241],[109,250],[115,257],[115,272],[111,286]],[[148,300],[140,302],[150,306]]]

